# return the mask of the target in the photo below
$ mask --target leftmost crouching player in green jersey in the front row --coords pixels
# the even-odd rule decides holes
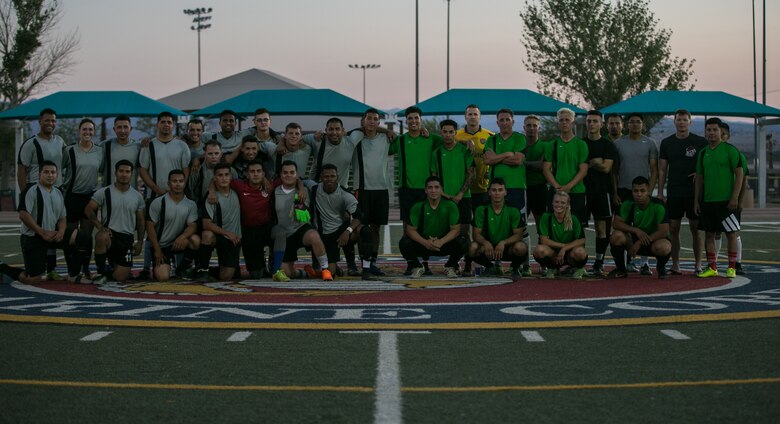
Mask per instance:
[[[426,199],[412,206],[409,225],[398,248],[412,269],[412,278],[425,272],[420,259],[449,255],[444,264],[447,277],[458,276],[458,262],[468,248],[468,241],[460,235],[458,205],[441,198],[441,180],[431,176],[425,180]]]

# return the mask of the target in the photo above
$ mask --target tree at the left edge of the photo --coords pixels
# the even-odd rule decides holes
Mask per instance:
[[[57,0],[0,0],[0,110],[60,82],[75,64],[77,32],[57,36]]]

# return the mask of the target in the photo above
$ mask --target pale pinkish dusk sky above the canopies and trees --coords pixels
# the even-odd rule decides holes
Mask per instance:
[[[761,1],[756,1],[761,101]],[[780,4],[767,7],[767,104],[780,107]],[[452,0],[452,88],[536,89],[522,59],[517,0]],[[697,90],[753,99],[751,0],[651,0],[672,53],[696,59]],[[231,0],[62,2],[62,32],[78,29],[78,64],[60,90],[133,90],[158,99],[197,85],[197,39],[182,10],[212,7],[202,33],[203,83],[250,68],[389,109],[414,103],[414,1]],[[446,89],[446,0],[420,1],[420,100]],[[597,54],[597,52],[594,52]],[[587,106],[587,105],[580,105]]]

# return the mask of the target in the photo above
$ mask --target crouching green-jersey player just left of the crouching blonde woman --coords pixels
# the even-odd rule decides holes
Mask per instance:
[[[520,266],[528,256],[528,246],[523,242],[525,223],[520,211],[504,202],[506,183],[501,177],[493,178],[488,188],[490,203],[477,208],[472,232],[474,241],[469,246],[469,257],[486,270],[497,263],[497,269],[487,271],[501,275],[501,261],[511,261],[512,277],[522,276]],[[485,275],[485,274],[483,274]]]

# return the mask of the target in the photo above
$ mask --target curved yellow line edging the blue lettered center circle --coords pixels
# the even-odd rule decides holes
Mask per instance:
[[[284,323],[284,322],[181,322],[103,318],[47,317],[0,314],[0,321],[35,324],[99,325],[146,328],[263,329],[263,330],[501,330],[518,328],[612,327],[710,321],[780,318],[780,310],[723,314],[670,315],[567,321],[461,322],[461,323]]]

